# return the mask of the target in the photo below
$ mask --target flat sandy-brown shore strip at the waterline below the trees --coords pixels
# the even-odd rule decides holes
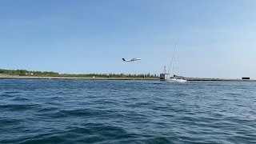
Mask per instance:
[[[93,77],[62,77],[62,76],[19,76],[19,75],[1,75],[0,79],[84,79],[84,80],[145,80],[160,81],[159,78],[93,78]],[[256,82],[256,80],[242,80],[229,78],[186,78],[187,81],[228,81],[228,82]]]

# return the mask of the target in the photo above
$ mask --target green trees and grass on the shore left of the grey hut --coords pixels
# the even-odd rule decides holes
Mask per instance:
[[[53,71],[31,71],[31,70],[4,70],[0,74],[9,75],[34,75],[34,76],[58,76],[58,77],[94,77],[94,78],[158,78],[157,74],[58,74]]]

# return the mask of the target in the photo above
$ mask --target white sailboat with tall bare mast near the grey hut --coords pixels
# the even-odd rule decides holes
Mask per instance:
[[[170,66],[171,66],[172,62],[174,62],[174,77],[168,78],[166,81],[167,82],[186,82],[186,79],[183,76],[178,76],[176,74],[176,69],[177,69],[176,49],[177,49],[177,45],[175,45],[174,56],[173,56],[173,58],[172,58],[172,60],[170,62]],[[168,70],[168,74],[169,74],[169,71],[170,71],[170,67],[169,67],[169,70]]]

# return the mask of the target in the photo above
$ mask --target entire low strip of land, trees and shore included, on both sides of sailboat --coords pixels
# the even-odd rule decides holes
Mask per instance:
[[[58,74],[52,71],[5,70],[0,69],[0,79],[87,79],[87,80],[153,80],[160,81],[157,74]],[[229,78],[186,78],[187,81],[229,81],[256,82],[254,79]]]

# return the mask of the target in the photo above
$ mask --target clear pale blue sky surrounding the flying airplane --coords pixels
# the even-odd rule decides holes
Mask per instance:
[[[256,78],[256,1],[0,1],[2,69],[159,74],[175,43],[186,77]]]

